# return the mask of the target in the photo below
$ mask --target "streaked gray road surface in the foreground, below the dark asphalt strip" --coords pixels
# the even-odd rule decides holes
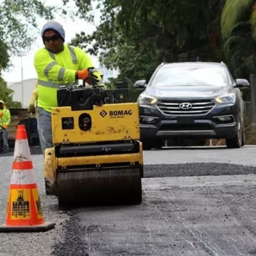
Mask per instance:
[[[79,209],[83,246],[90,256],[255,255],[256,175],[218,178],[145,179],[141,205]]]

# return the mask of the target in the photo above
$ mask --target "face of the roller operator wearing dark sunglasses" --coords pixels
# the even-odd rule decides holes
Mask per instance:
[[[53,30],[45,31],[43,36],[43,41],[44,41],[45,47],[48,50],[56,53],[63,51],[63,41],[60,35],[58,35],[58,33],[56,33],[55,31]]]

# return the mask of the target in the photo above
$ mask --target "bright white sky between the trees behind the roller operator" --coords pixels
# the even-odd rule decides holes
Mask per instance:
[[[45,0],[44,1],[48,6],[51,6],[51,3],[54,2],[54,5],[61,6],[62,1],[61,0]],[[96,1],[95,1],[96,3]],[[38,19],[38,25],[39,29],[43,28],[45,22],[47,20],[45,19]],[[95,25],[88,24],[85,20],[79,20],[74,19],[72,20],[63,20],[60,17],[56,19],[58,22],[60,22],[63,25],[63,28],[65,29],[65,42],[69,42],[72,38],[76,36],[76,33],[80,33],[81,31],[86,31],[86,33],[92,33],[93,30],[95,30]],[[96,24],[99,23],[99,17],[95,19]],[[26,54],[26,56],[22,56],[22,58],[13,56],[11,58],[11,62],[13,67],[10,68],[10,70],[6,70],[5,72],[2,72],[3,79],[7,83],[13,83],[17,81],[21,81],[22,79],[22,73],[23,73],[23,79],[30,79],[30,78],[36,78],[37,74],[35,71],[35,68],[33,66],[34,61],[34,54],[37,51],[38,48],[44,47],[44,44],[42,42],[42,38],[40,35],[40,31],[38,32],[38,40],[36,40],[35,44],[33,44],[33,47],[31,51]],[[95,67],[99,67],[99,62],[95,56],[92,56],[93,63],[95,63]]]

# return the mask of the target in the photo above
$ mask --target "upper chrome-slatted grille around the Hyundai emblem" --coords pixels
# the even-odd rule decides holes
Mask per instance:
[[[190,103],[192,108],[181,109],[179,105],[181,103]],[[209,113],[215,104],[211,100],[161,100],[157,107],[164,115],[205,115]]]

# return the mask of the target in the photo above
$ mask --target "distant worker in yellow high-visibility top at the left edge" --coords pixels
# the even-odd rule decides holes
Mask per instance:
[[[0,100],[0,131],[3,132],[3,141],[1,141],[2,138],[0,138],[0,148],[1,143],[3,143],[3,152],[8,151],[9,144],[8,144],[8,138],[9,138],[9,132],[8,132],[8,126],[11,122],[11,114],[10,110],[6,108],[6,105],[4,104],[3,100]]]

